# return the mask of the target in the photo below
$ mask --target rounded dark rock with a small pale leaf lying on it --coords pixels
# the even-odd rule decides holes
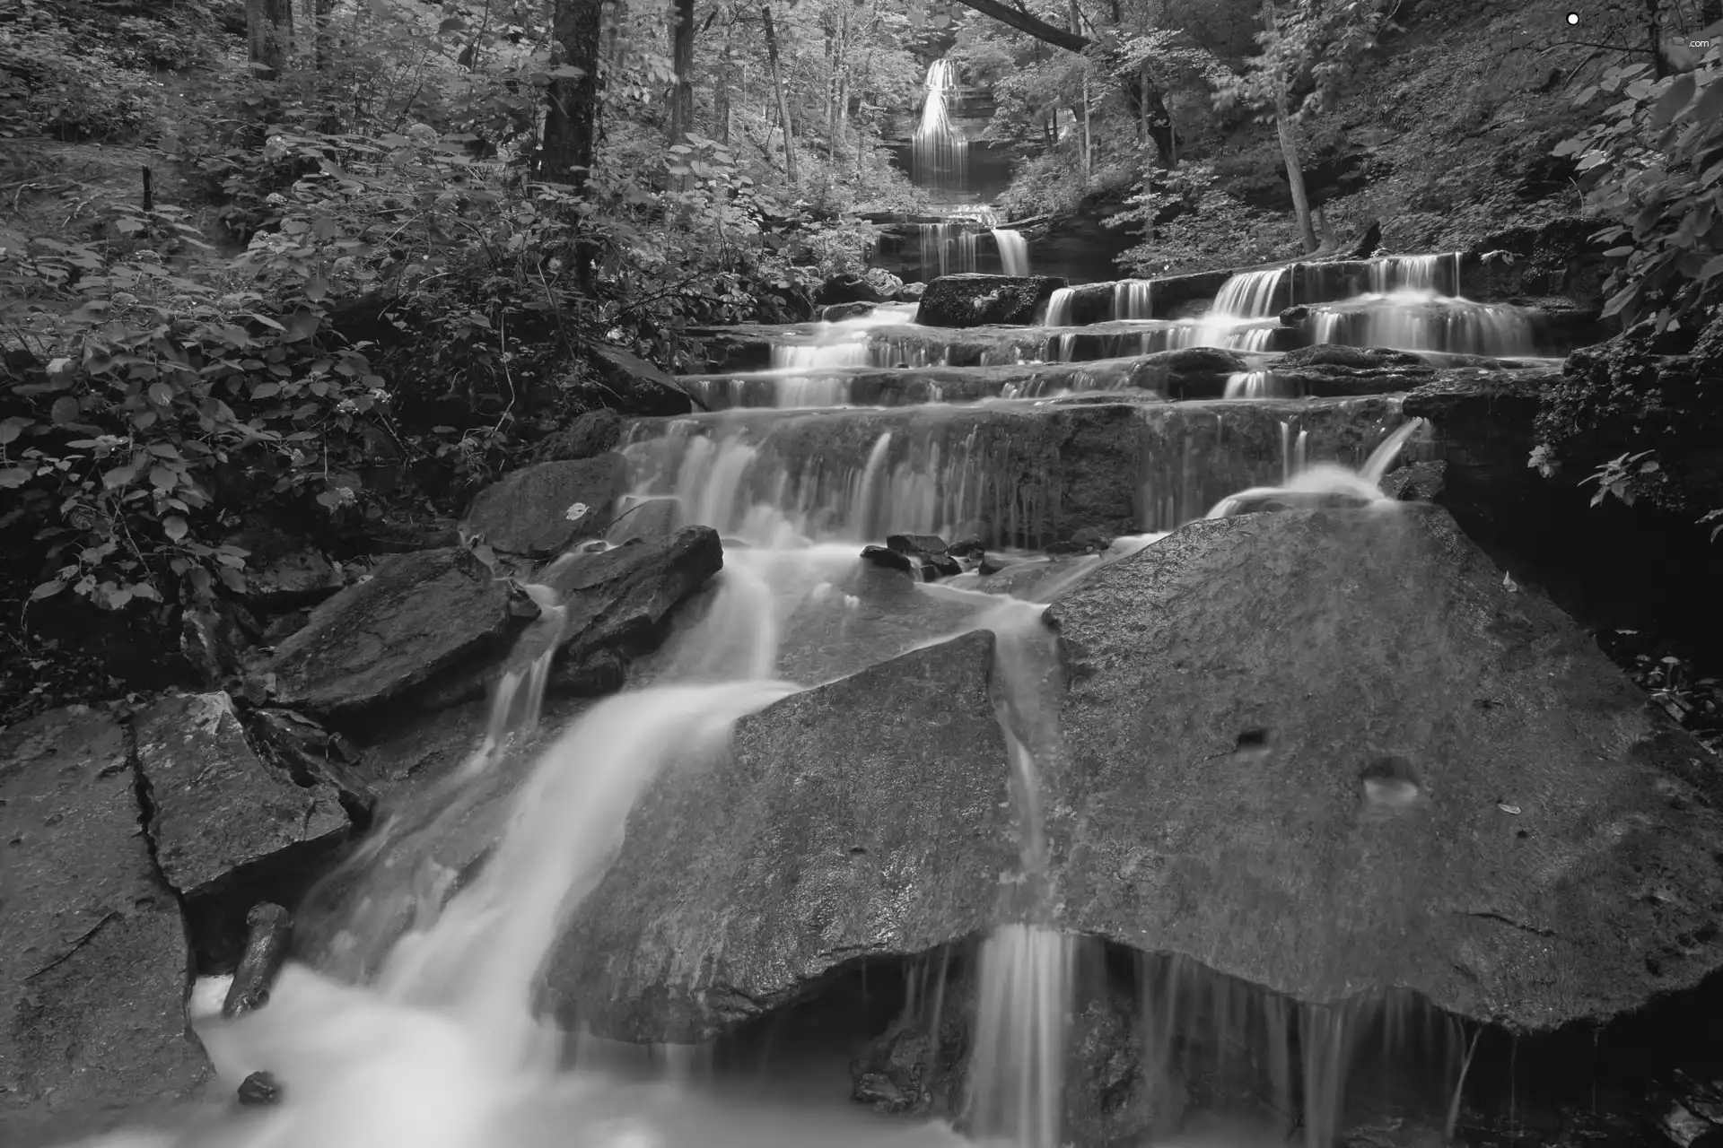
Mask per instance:
[[[603,535],[627,487],[629,465],[617,453],[534,463],[479,491],[465,528],[498,551],[550,558],[575,539]]]

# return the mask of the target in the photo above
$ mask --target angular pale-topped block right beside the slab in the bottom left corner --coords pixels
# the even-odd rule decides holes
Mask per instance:
[[[336,788],[296,785],[260,757],[226,694],[162,699],[134,731],[155,861],[193,917],[226,914],[227,898],[274,880],[308,883],[346,840]]]

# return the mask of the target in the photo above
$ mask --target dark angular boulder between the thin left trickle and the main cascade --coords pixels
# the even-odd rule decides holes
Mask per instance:
[[[600,651],[634,656],[658,645],[670,611],[722,568],[718,534],[684,527],[669,539],[553,563],[539,580],[567,608],[562,649],[579,664]]]

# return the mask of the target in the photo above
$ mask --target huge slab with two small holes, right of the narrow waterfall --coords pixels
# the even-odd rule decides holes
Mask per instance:
[[[1440,508],[1192,523],[1049,616],[1067,928],[1520,1029],[1723,964],[1716,762]]]

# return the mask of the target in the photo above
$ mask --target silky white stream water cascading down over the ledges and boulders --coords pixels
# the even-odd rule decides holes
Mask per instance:
[[[949,71],[937,83],[930,72],[929,102],[949,83]],[[944,151],[932,146],[941,122],[924,114],[930,150],[949,167],[949,141]],[[1011,246],[996,241],[1001,253]],[[1447,256],[1380,268],[1370,272],[1370,294],[1421,293],[1385,305],[1384,315],[1425,306],[1437,289],[1458,293],[1458,263]],[[1234,277],[1201,320],[1154,320],[1149,281],[1110,293],[1122,322],[1237,344],[1249,324],[1287,305],[1296,284],[1327,291],[1320,275],[1251,272]],[[1073,298],[1054,298],[1049,312]],[[908,972],[903,1014],[930,1015],[937,1043],[942,1015],[973,1012],[963,1100],[948,1114],[968,1138],[1020,1148],[1067,1143],[1073,1009],[1099,947],[1049,924],[1056,890],[1042,788],[1060,768],[1061,744],[1044,602],[1204,515],[1332,499],[1389,513],[1380,482],[1423,423],[1404,420],[1392,398],[1273,398],[1272,370],[1235,375],[1230,401],[1213,403],[1103,396],[1094,404],[982,389],[967,392],[968,401],[849,404],[855,372],[879,370],[882,346],[899,353],[906,344],[889,339],[906,337],[908,318],[908,306],[886,305],[855,320],[774,332],[770,370],[700,380],[713,406],[744,406],[743,386],[768,387],[768,408],[629,427],[622,451],[634,487],[622,509],[667,501],[674,522],[725,535],[713,587],[684,608],[677,632],[629,688],[572,719],[548,719],[544,685],[565,614],[553,587],[588,554],[541,571],[527,587],[541,614],[500,676],[484,742],[445,781],[395,809],[343,880],[308,902],[305,960],[283,972],[267,1009],[234,1022],[198,1019],[226,1089],[267,1069],[283,1079],[284,1103],[212,1108],[190,1131],[128,1143],[965,1143],[937,1119],[849,1105],[843,1048],[779,1062],[763,1084],[751,1077],[741,1089],[718,1067],[698,1069],[705,1060],[691,1050],[627,1055],[558,1031],[538,1012],[536,991],[563,923],[603,878],[648,787],[725,752],[737,719],[799,688],[977,628],[996,635],[994,704],[1022,854],[1001,881],[996,928],[960,955],[968,979],[948,976],[951,954],[929,955]],[[963,337],[929,330],[913,336],[953,346]],[[951,368],[949,377],[986,370]],[[1068,537],[1080,515],[1130,522],[1134,534],[1080,558],[1039,552]],[[913,585],[910,606],[862,608],[868,590],[858,551],[893,532],[973,537],[1006,570]],[[996,592],[999,585],[1015,585],[1017,597]],[[1347,1089],[1377,1062],[1416,1062],[1420,1081],[1437,1091],[1454,1086],[1458,1038],[1416,1002],[1299,1005],[1196,962],[1149,955],[1139,955],[1134,991],[1146,1079],[1158,1096],[1189,1095],[1199,1110],[1158,1143],[1284,1143],[1303,1124],[1308,1148],[1328,1148]],[[1225,1120],[1216,1124],[1216,1114]]]

